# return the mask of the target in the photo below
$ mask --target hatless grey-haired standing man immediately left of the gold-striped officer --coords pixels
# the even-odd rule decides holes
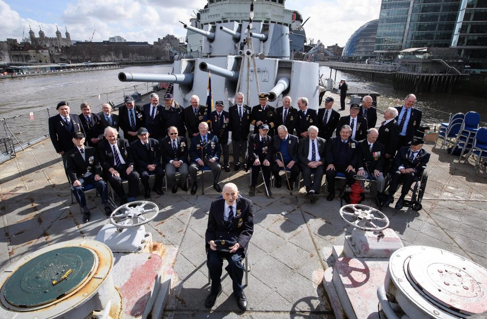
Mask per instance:
[[[238,92],[235,95],[236,104],[230,106],[230,131],[233,140],[233,170],[240,169],[240,155],[242,158],[243,169],[247,169],[245,158],[247,157],[247,145],[250,132],[250,113],[252,111],[249,105],[243,104],[243,93]]]

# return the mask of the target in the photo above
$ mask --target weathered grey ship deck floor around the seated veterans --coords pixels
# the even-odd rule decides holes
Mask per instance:
[[[339,100],[335,94],[327,95]],[[382,212],[404,245],[445,249],[487,267],[487,173],[485,169],[476,170],[472,161],[460,163],[458,156],[432,146],[425,144],[432,155],[423,209],[383,208]],[[222,184],[236,183],[243,196],[248,194],[249,179],[249,173],[243,171],[221,175]],[[147,229],[155,241],[177,250],[164,317],[241,314],[225,272],[223,294],[216,305],[212,310],[203,305],[209,292],[204,252],[207,211],[219,195],[211,187],[209,176],[205,181],[205,195],[201,195],[199,183],[196,195],[166,191],[152,200],[161,211]],[[352,230],[339,217],[339,200],[327,202],[322,192],[319,201],[310,204],[303,189],[290,195],[285,187],[272,188],[270,199],[263,191],[259,186],[256,196],[250,197],[255,231],[249,247],[249,285],[244,290],[249,308],[243,317],[333,317],[322,286],[328,267],[324,251],[341,245]],[[92,214],[91,221],[83,224],[77,204],[71,204],[61,158],[50,140],[19,152],[0,165],[0,267],[4,269],[45,245],[93,239],[108,222],[98,208],[99,201],[87,196]],[[370,197],[362,204],[374,206]]]

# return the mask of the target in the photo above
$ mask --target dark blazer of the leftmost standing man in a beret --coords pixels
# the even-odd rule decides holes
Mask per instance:
[[[52,145],[56,152],[67,152],[68,150],[75,148],[73,144],[73,133],[83,132],[85,130],[81,125],[78,115],[69,114],[70,122],[73,124],[72,130],[69,130],[60,114],[49,117],[49,135],[51,137]]]

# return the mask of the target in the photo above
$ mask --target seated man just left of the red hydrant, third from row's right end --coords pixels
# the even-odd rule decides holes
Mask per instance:
[[[326,143],[326,182],[328,183],[327,201],[333,201],[335,197],[335,177],[336,173],[344,173],[346,184],[352,185],[354,182],[355,167],[358,161],[357,141],[353,140],[352,129],[349,125],[343,125],[339,136],[332,137]],[[346,203],[350,202],[349,196],[343,196]]]

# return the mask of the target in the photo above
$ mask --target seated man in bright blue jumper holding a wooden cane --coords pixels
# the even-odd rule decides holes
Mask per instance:
[[[277,135],[272,138],[272,165],[270,169],[275,178],[275,187],[280,188],[282,185],[282,178],[279,175],[281,169],[289,169],[291,176],[289,178],[289,185],[286,187],[289,190],[294,189],[294,182],[299,175],[298,165],[298,145],[299,140],[297,136],[289,134],[288,129],[284,125],[277,127]],[[277,155],[281,152],[281,156]],[[284,162],[282,162],[284,160]],[[290,188],[291,187],[291,188]]]

